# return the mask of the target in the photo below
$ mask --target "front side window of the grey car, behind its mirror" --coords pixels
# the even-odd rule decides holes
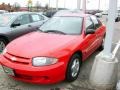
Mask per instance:
[[[20,23],[21,25],[30,23],[29,15],[26,14],[26,15],[22,15],[22,16],[18,17],[18,18],[15,20],[14,24],[19,24],[19,23]]]

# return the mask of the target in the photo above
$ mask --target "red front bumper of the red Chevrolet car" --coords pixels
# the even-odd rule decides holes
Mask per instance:
[[[13,63],[4,56],[0,56],[0,62],[2,66],[13,70],[14,75],[9,74],[9,76],[16,80],[36,84],[53,84],[65,79],[66,68],[64,62],[50,66],[34,67],[31,64]]]

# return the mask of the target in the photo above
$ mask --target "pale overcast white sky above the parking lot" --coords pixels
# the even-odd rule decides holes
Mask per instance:
[[[45,6],[49,0],[32,0],[33,5],[36,4],[36,2],[39,1],[42,6]],[[56,0],[50,0],[50,5],[52,7],[56,6]],[[59,7],[66,7],[69,9],[76,9],[77,8],[77,0],[58,0],[59,1]],[[120,0],[118,0],[120,1]],[[18,2],[22,7],[27,6],[28,0],[0,0],[0,3],[10,3],[13,5],[15,2]],[[99,0],[87,0],[87,9],[98,9],[98,2]],[[65,5],[64,5],[65,3]],[[100,9],[107,9],[108,8],[109,0],[100,0]],[[118,2],[118,6],[119,6]]]

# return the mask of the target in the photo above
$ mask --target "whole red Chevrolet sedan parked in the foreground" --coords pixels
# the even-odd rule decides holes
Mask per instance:
[[[39,31],[8,44],[0,62],[10,77],[24,82],[72,82],[81,63],[96,49],[103,49],[105,29],[93,15],[73,11],[56,14]]]

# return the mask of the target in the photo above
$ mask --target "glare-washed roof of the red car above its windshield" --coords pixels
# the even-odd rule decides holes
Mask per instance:
[[[85,14],[81,10],[60,10],[54,15],[54,17],[87,17],[87,16],[91,16],[91,14]]]

